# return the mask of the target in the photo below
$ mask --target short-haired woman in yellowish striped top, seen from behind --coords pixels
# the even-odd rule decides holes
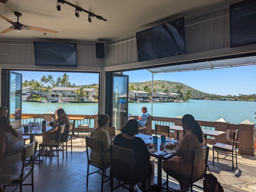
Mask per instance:
[[[103,155],[103,162],[107,164],[110,162],[110,154],[109,154],[109,146],[110,146],[110,139],[109,134],[106,129],[109,126],[110,118],[107,114],[100,114],[98,118],[98,127],[94,128],[91,131],[90,137],[93,139],[100,139],[103,140],[104,151]],[[97,165],[101,165],[101,153],[91,149],[90,159],[93,163]]]

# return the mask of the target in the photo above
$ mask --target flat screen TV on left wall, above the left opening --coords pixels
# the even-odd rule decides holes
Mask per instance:
[[[77,67],[76,43],[34,41],[37,66]]]

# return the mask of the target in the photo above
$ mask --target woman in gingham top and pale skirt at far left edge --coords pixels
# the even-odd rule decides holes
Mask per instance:
[[[23,147],[22,134],[13,129],[7,117],[0,117],[0,185],[8,185],[21,175]]]

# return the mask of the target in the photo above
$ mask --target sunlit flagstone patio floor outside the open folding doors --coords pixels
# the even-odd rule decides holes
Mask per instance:
[[[42,142],[42,137],[36,137],[39,143]],[[28,141],[27,141],[28,143]],[[85,147],[85,136],[73,137],[72,139],[73,147]],[[86,150],[86,149],[84,149]],[[223,152],[227,154],[226,152]],[[217,156],[217,152],[215,152]],[[219,157],[226,157],[225,155],[219,155]],[[232,159],[231,157],[226,157],[227,159]],[[155,170],[157,170],[157,159],[155,159]],[[256,192],[256,156],[251,157],[247,155],[237,156],[237,163],[234,163],[234,170],[232,170],[232,162],[215,159],[214,165],[212,165],[212,147],[210,146],[209,152],[209,161],[208,165],[210,171],[218,178],[218,181],[221,183],[225,191],[248,191]],[[157,171],[155,171],[157,175]],[[166,178],[163,172],[163,178]],[[169,179],[169,182],[172,182],[176,187],[178,187],[177,181]],[[202,183],[202,182],[199,182]],[[198,190],[201,191],[201,190]]]

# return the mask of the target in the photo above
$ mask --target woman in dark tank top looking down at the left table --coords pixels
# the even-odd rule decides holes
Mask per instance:
[[[67,114],[65,113],[64,109],[60,108],[57,110],[57,115],[58,115],[58,119],[56,120],[56,122],[50,122],[51,127],[60,127],[61,125],[64,124],[68,124],[69,123],[69,118],[67,116]],[[49,131],[44,135],[44,140],[48,140],[48,139],[54,139],[54,138],[59,138],[59,129],[57,131]],[[68,134],[68,133],[63,133],[60,136],[60,139],[64,138],[64,134]],[[43,140],[43,141],[44,141]],[[40,150],[40,153],[45,153],[45,147],[42,147]],[[48,154],[48,153],[47,153]],[[39,154],[38,154],[39,155]],[[37,156],[38,156],[37,155]]]

